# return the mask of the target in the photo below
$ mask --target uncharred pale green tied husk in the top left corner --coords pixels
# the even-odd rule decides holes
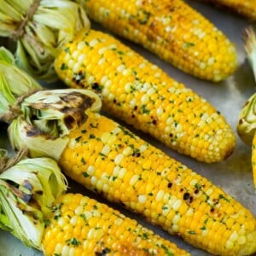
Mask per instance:
[[[25,20],[26,26],[22,27]],[[71,40],[75,32],[89,27],[84,9],[72,1],[0,1],[0,36],[14,39],[15,45],[10,48],[15,48],[19,67],[39,80],[57,79],[57,49]]]

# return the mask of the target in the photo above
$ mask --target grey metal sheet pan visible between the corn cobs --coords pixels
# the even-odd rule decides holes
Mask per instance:
[[[247,98],[253,94],[256,90],[256,82],[253,79],[253,73],[249,67],[243,48],[243,42],[241,39],[241,31],[249,26],[253,25],[256,28],[256,24],[247,21],[235,14],[227,13],[224,10],[214,9],[207,6],[204,3],[199,3],[197,1],[186,1],[195,9],[198,9],[201,14],[205,15],[209,20],[222,30],[229,38],[236,44],[239,68],[234,75],[224,82],[213,84],[211,82],[206,82],[200,79],[195,79],[189,74],[185,74],[177,68],[172,67],[164,61],[161,61],[157,56],[148,53],[145,49],[131,44],[125,40],[125,44],[129,44],[131,48],[136,49],[150,61],[154,62],[156,65],[160,66],[166,73],[169,73],[172,78],[186,84],[187,87],[195,90],[199,95],[211,102],[218,110],[224,114],[227,121],[232,125],[233,130],[236,132],[236,123],[238,119],[238,113],[246,102]],[[97,27],[101,29],[100,27]],[[64,87],[65,85],[61,82],[51,84],[53,88]],[[5,125],[1,124],[1,145],[8,146],[8,140],[5,136]],[[131,130],[132,128],[129,127]],[[204,164],[199,163],[189,157],[177,154],[170,148],[164,147],[161,143],[156,142],[151,137],[146,136],[138,131],[135,131],[143,139],[147,140],[149,143],[154,144],[156,147],[161,148],[166,154],[169,154],[173,158],[182,161],[185,165],[192,168],[195,172],[199,172],[201,175],[208,177],[213,183],[217,184],[223,188],[230,195],[234,196],[238,201],[241,202],[245,207],[249,208],[253,214],[256,216],[256,195],[253,190],[253,177],[251,168],[251,150],[241,139],[237,137],[235,152],[230,156],[228,160],[220,163],[214,164]],[[73,191],[81,192],[85,195],[90,195],[99,201],[106,202],[99,196],[92,194],[90,191],[82,188],[76,183],[70,181],[70,187]],[[160,236],[166,237],[175,241],[179,247],[183,247],[188,250],[194,256],[207,256],[210,255],[203,252],[195,247],[189,246],[188,243],[182,241],[178,237],[173,237],[168,235],[165,231],[146,223],[143,218],[137,216],[137,214],[128,212],[116,205],[108,203],[108,205],[118,208],[119,211],[124,212],[127,216],[131,218],[136,218],[138,222],[144,224],[148,228],[154,230]],[[14,236],[11,236],[5,231],[0,231],[0,255],[1,256],[40,256],[42,253],[25,247],[20,241],[18,241]]]

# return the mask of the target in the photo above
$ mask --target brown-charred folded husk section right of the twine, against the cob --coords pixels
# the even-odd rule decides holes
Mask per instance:
[[[10,143],[18,150],[30,148],[32,157],[59,160],[69,142],[69,131],[86,121],[87,111],[100,108],[99,97],[89,90],[38,91],[20,104],[22,114],[9,125]]]

